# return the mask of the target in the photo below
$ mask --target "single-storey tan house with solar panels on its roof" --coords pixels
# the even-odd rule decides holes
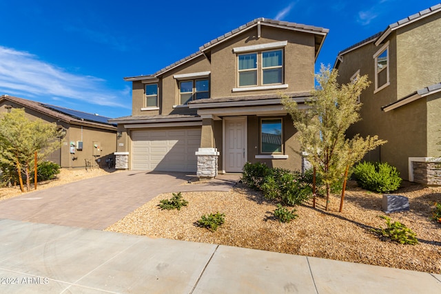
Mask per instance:
[[[116,151],[116,125],[108,123],[110,118],[88,114],[73,109],[39,103],[23,98],[0,96],[0,114],[12,108],[23,108],[28,117],[41,118],[56,123],[62,131],[61,148],[47,160],[61,167],[105,167],[105,160]],[[88,165],[89,166],[89,165]]]

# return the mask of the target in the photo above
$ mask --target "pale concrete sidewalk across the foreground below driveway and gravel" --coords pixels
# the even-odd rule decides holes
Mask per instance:
[[[0,220],[0,293],[441,293],[441,275]]]

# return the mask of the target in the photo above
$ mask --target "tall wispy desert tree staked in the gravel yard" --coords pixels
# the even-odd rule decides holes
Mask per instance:
[[[307,152],[307,160],[322,176],[326,188],[326,210],[329,209],[331,185],[345,178],[349,167],[363,158],[367,151],[386,143],[378,136],[346,138],[347,129],[360,120],[362,104],[358,103],[358,96],[369,87],[370,82],[367,75],[358,75],[351,83],[338,85],[337,76],[337,70],[322,65],[315,75],[316,89],[305,101],[304,109],[282,95],[282,103],[299,132],[300,145]]]

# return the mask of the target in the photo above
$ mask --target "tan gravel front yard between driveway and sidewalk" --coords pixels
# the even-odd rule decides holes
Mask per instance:
[[[172,197],[161,194],[106,230],[441,273],[441,224],[429,219],[434,202],[441,201],[441,187],[403,182],[394,193],[409,198],[410,211],[389,217],[416,233],[419,243],[412,246],[372,233],[385,227],[379,218],[384,215],[382,195],[359,189],[355,182],[348,186],[342,213],[340,197],[331,198],[329,211],[319,198],[316,209],[311,201],[296,207],[298,218],[286,224],[272,216],[276,202],[238,184],[229,192],[183,192],[189,203],[180,211],[159,209],[159,200]],[[197,226],[203,214],[216,212],[225,213],[217,231]]]

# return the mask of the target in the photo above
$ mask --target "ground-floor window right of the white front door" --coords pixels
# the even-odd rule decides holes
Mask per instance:
[[[281,154],[283,152],[282,118],[260,119],[260,153]]]

